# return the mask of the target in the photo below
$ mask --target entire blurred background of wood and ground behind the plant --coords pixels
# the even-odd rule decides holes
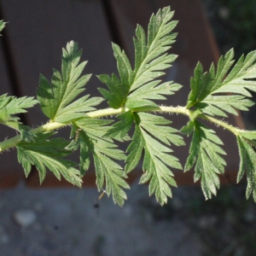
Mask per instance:
[[[183,90],[166,105],[185,104],[197,61],[207,70],[232,47],[236,59],[256,49],[254,1],[2,0],[0,18],[9,23],[0,44],[0,93],[35,96],[39,73],[50,79],[52,67],[61,68],[61,48],[71,40],[89,60],[86,73],[116,73],[110,42],[132,59],[137,23],[147,29],[150,15],[168,5],[179,20],[172,48],[179,57],[164,79],[183,84]],[[86,86],[86,94],[99,95],[102,84],[93,76]],[[228,121],[255,129],[255,111]],[[177,129],[187,121],[169,118]],[[33,127],[46,121],[39,108],[21,119]],[[218,132],[228,153],[218,196],[205,201],[193,172],[175,172],[179,188],[172,189],[165,207],[148,197],[147,186],[137,185],[141,170],[130,177],[128,201],[120,208],[106,195],[98,200],[93,170],[84,177],[84,189],[67,187],[50,173],[39,187],[36,170],[24,178],[15,150],[1,154],[0,255],[255,255],[256,207],[245,199],[245,181],[234,185],[239,165],[234,137]],[[2,140],[13,135],[1,127]],[[184,163],[189,141],[174,150]]]

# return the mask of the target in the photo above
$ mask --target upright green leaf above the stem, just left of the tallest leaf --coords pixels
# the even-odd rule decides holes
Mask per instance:
[[[88,96],[84,96],[73,102],[85,90],[84,85],[91,76],[90,74],[81,76],[86,65],[86,61],[79,64],[81,55],[82,50],[79,50],[79,45],[71,41],[67,44],[67,49],[63,49],[61,73],[54,69],[51,83],[40,75],[38,101],[49,119],[68,122],[71,120],[68,118],[70,113],[73,113],[74,119],[85,116],[84,112],[94,109],[91,106],[102,101],[99,98],[86,101]]]

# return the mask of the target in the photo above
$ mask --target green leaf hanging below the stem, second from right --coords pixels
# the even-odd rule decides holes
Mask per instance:
[[[225,152],[220,148],[223,143],[215,135],[215,131],[196,120],[193,123],[194,134],[184,171],[187,172],[195,166],[194,180],[197,182],[201,178],[201,188],[206,199],[209,199],[212,198],[212,194],[216,195],[217,189],[219,189],[217,174],[224,173],[226,162],[221,154],[225,154]],[[189,127],[189,129],[191,128]]]

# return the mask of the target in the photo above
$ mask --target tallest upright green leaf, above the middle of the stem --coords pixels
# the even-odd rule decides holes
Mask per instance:
[[[134,70],[125,52],[118,45],[113,44],[113,55],[117,61],[119,78],[114,74],[112,77],[105,74],[98,76],[103,84],[108,85],[108,90],[100,89],[100,92],[108,100],[110,107],[124,107],[129,93],[131,95],[127,101],[128,108],[155,106],[154,102],[148,100],[166,99],[163,95],[171,95],[173,91],[180,88],[180,85],[172,82],[165,84],[160,84],[160,80],[153,82],[154,79],[164,75],[163,71],[172,67],[172,61],[177,58],[177,55],[168,52],[177,36],[177,33],[172,32],[177,25],[177,21],[171,21],[172,16],[170,7],[160,9],[156,15],[152,15],[148,25],[148,38],[143,27],[137,26],[136,38],[133,39]],[[141,87],[142,89],[138,90]]]

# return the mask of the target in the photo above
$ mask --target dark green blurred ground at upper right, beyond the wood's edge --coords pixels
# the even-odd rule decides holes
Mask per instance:
[[[223,55],[234,48],[236,60],[256,49],[256,2],[205,0],[208,20],[211,22],[218,49]],[[253,98],[256,98],[253,93]],[[242,113],[247,129],[255,130],[256,107]]]

